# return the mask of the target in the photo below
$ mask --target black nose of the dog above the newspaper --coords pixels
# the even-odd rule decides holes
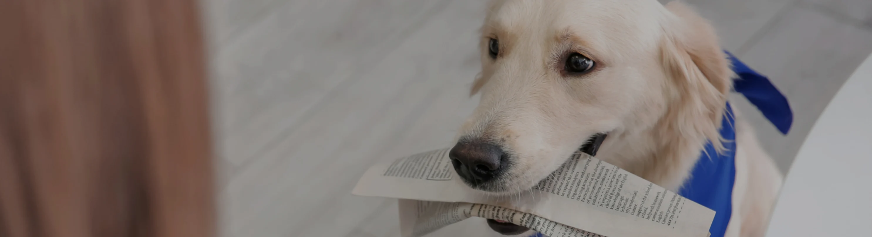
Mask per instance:
[[[448,157],[460,178],[478,185],[500,174],[506,154],[500,147],[485,142],[457,142]]]

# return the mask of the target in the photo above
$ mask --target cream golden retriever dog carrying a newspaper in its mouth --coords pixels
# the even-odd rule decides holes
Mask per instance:
[[[480,31],[481,72],[471,89],[480,102],[450,153],[467,186],[528,191],[591,137],[607,135],[597,158],[678,193],[709,146],[732,152],[735,166],[732,215],[712,236],[765,234],[782,175],[738,111],[726,112],[736,74],[691,7],[494,0]],[[734,141],[721,136],[725,123]],[[487,222],[500,234],[533,234]]]

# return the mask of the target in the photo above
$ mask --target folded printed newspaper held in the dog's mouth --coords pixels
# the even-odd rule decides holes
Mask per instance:
[[[352,194],[401,199],[403,236],[421,236],[478,216],[550,237],[705,237],[714,218],[707,207],[582,153],[532,190],[496,197],[458,181],[448,151],[373,166]]]

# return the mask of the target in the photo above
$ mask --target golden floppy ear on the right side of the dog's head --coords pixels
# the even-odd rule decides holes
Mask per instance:
[[[678,128],[692,125],[685,135],[702,135],[721,150],[719,128],[734,73],[720,48],[712,25],[684,3],[666,9],[676,17],[664,24],[661,56],[664,70],[676,85],[667,119]]]

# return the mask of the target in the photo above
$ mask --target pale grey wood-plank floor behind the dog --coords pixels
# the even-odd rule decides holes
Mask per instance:
[[[689,0],[794,107],[782,136],[739,96],[787,170],[872,52],[869,0]],[[222,236],[399,236],[396,201],[352,196],[364,169],[448,147],[477,98],[480,0],[205,0]],[[439,236],[477,236],[468,222]],[[453,233],[453,234],[452,234]]]

